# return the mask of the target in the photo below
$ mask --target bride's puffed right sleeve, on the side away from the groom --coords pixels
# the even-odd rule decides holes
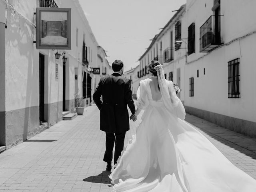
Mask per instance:
[[[186,111],[180,98],[178,98],[178,96],[176,95],[172,81],[169,81],[168,91],[170,94],[171,102],[174,104],[174,114],[181,120],[184,120],[186,116]]]

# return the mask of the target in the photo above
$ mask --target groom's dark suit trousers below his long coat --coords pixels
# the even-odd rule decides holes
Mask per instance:
[[[119,156],[121,155],[122,150],[124,149],[124,138],[125,133],[108,133],[106,132],[106,151],[104,154],[103,161],[107,163],[112,162],[113,158],[113,148],[115,146],[115,153],[114,153],[114,164],[116,164]]]

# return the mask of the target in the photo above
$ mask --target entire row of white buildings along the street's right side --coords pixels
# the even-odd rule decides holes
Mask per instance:
[[[166,79],[180,84],[186,112],[256,137],[255,7],[254,0],[187,0],[141,56],[133,86],[148,78],[145,64],[159,60]]]

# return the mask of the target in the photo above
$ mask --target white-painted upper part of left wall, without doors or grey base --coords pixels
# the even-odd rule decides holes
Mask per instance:
[[[1,1],[1,8],[3,0]],[[97,62],[97,46],[84,13],[79,9],[78,0],[55,0],[60,8],[72,9],[72,49],[36,50],[35,39],[36,7],[39,1],[12,1],[8,5],[8,28],[6,33],[6,110],[15,110],[39,105],[39,52],[45,55],[46,85],[45,103],[62,101],[62,59],[55,60],[54,54],[66,51],[66,100],[74,99],[74,68],[82,70],[82,44],[85,34],[86,46],[90,47],[89,65]],[[1,11],[2,12],[2,11]],[[3,16],[1,16],[3,17]],[[78,28],[78,46],[76,46],[76,28]],[[89,56],[88,56],[89,57]],[[55,64],[59,64],[59,78],[55,78]],[[82,72],[79,74],[79,87],[82,89]],[[80,89],[80,90],[81,90]]]

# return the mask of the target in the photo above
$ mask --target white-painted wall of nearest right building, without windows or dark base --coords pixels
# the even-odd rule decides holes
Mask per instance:
[[[200,53],[199,28],[213,14],[212,0],[187,1],[188,26],[195,22],[196,53],[188,56],[185,71],[185,105],[256,122],[256,2],[221,1],[221,36],[223,46],[210,53]],[[200,12],[198,12],[200,10]],[[235,38],[240,38],[230,42]],[[228,98],[228,61],[240,58],[241,98]],[[206,74],[203,74],[205,68]],[[197,70],[199,77],[197,78]],[[194,97],[189,97],[189,78],[194,77]]]

